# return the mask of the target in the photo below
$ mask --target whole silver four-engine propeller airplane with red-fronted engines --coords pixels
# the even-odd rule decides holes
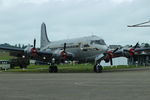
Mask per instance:
[[[50,63],[53,58],[56,63],[64,62],[65,60],[76,60],[79,63],[95,61],[95,72],[102,72],[103,67],[100,65],[102,60],[113,65],[112,58],[130,58],[142,51],[150,52],[150,48],[138,48],[138,43],[131,48],[108,50],[104,40],[95,35],[51,42],[47,36],[45,23],[41,25],[40,45],[40,49],[37,49],[36,40],[34,39],[33,47],[28,45],[27,48],[21,49],[0,46],[0,49],[9,51],[10,55],[16,56],[18,59],[35,59]],[[20,66],[26,67],[23,62],[20,62]],[[49,67],[49,72],[57,71],[57,66]]]

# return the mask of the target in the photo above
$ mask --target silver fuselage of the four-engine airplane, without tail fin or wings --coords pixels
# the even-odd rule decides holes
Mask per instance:
[[[49,42],[45,47],[41,48],[41,50],[58,54],[63,50],[64,43],[66,43],[66,52],[73,54],[74,60],[81,62],[94,61],[98,55],[103,54],[108,49],[102,38],[92,35]]]

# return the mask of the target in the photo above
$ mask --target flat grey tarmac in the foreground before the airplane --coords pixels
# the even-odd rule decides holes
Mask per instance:
[[[0,100],[149,100],[150,70],[103,73],[0,72]]]

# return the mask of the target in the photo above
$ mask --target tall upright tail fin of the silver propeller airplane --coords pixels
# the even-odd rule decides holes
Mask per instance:
[[[50,43],[50,41],[47,37],[46,25],[45,23],[42,23],[41,25],[41,48],[48,45],[48,43]]]

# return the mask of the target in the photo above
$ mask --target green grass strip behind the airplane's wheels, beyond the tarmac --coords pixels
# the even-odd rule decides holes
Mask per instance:
[[[143,66],[106,66],[103,70],[113,70],[113,69],[127,69],[127,68],[140,68]],[[48,65],[29,65],[27,69],[20,69],[16,67],[15,69],[9,69],[3,72],[37,72],[37,73],[48,73]],[[93,73],[93,65],[92,64],[65,64],[58,65],[59,73]]]

